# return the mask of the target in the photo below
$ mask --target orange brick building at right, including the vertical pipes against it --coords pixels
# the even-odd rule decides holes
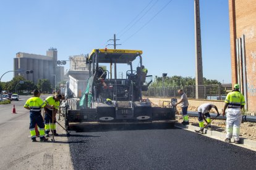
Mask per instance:
[[[239,83],[249,111],[256,111],[256,1],[229,0],[232,84]]]

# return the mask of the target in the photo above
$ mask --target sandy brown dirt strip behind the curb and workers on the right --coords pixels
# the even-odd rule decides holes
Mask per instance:
[[[181,113],[181,107],[177,106],[177,111]],[[189,106],[188,111],[197,111],[197,107],[191,107]],[[212,110],[212,112],[214,112]],[[182,115],[177,114],[176,115],[177,121],[181,123],[183,121]],[[192,124],[194,126],[199,126],[198,125],[198,118],[197,117],[189,117],[189,124]],[[218,131],[218,132],[223,132],[226,133],[226,121],[225,120],[220,120],[220,119],[215,119],[212,123],[211,126],[213,131]],[[250,123],[250,122],[244,122],[241,124],[241,129],[240,129],[240,136],[244,137],[246,139],[252,139],[256,140],[256,123]]]

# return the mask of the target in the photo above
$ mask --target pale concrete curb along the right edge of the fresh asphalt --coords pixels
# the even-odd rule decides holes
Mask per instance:
[[[183,125],[181,123],[176,123],[175,126],[181,128],[181,129],[185,129],[187,131],[192,131],[192,132],[195,132],[195,130],[199,129],[199,127],[197,127],[197,126]],[[203,129],[203,132],[206,134],[206,136],[221,140],[223,142],[224,142],[224,139],[226,139],[226,133],[217,132],[217,131],[208,131],[207,129]],[[246,148],[249,147],[252,150],[256,150],[256,141],[255,140],[246,139],[243,137],[241,137],[240,140],[241,140],[241,144],[239,144],[237,146],[240,146],[240,147],[246,146]],[[234,139],[231,139],[231,142],[234,142]]]

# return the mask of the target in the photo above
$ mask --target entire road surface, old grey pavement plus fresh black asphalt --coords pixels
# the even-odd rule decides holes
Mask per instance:
[[[0,105],[0,169],[256,169],[256,152],[177,128],[112,127],[67,138],[57,125],[56,142],[31,142],[27,99]]]

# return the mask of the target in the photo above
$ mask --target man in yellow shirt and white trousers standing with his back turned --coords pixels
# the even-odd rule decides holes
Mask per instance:
[[[230,143],[231,138],[234,137],[235,144],[241,144],[239,140],[240,125],[242,122],[241,109],[245,105],[244,95],[239,91],[239,84],[234,84],[234,90],[229,92],[225,99],[225,105],[222,115],[225,115],[226,108],[226,139],[225,142]]]

